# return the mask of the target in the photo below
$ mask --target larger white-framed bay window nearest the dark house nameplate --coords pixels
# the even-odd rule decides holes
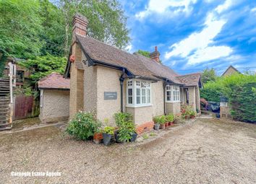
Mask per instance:
[[[129,79],[127,81],[127,106],[136,108],[148,105],[151,105],[150,82]]]

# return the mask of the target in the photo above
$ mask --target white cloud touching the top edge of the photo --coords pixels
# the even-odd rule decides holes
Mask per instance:
[[[168,8],[176,8],[173,13],[189,12],[189,5],[195,4],[197,0],[150,0],[144,11],[135,14],[138,19],[143,19],[149,14],[162,14],[168,12]]]

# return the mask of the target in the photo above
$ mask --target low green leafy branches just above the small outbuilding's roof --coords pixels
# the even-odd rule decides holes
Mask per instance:
[[[52,72],[64,74],[67,58],[46,54],[46,56],[37,56],[34,59],[28,59],[19,64],[33,71],[30,75],[30,79],[35,83],[43,78],[43,76],[47,76]]]

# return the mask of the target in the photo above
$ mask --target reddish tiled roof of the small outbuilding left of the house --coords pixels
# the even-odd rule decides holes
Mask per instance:
[[[46,89],[69,89],[69,81],[69,79],[65,79],[61,74],[51,73],[38,81],[38,87]]]

